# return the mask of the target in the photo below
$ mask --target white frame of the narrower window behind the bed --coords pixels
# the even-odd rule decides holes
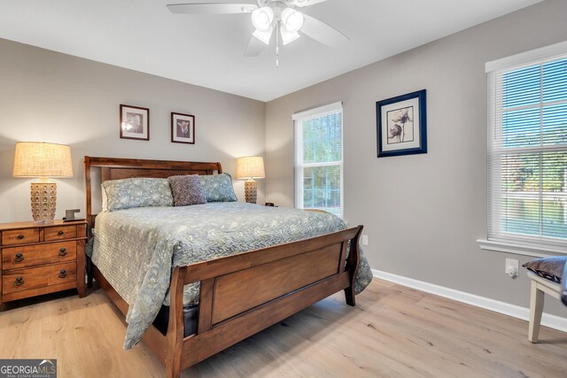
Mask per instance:
[[[314,120],[317,118],[322,118],[324,116],[335,114],[341,114],[341,140],[340,140],[340,150],[341,158],[340,161],[330,161],[322,163],[303,163],[303,122]],[[339,166],[340,167],[340,214],[339,218],[344,219],[345,217],[345,185],[344,185],[344,175],[345,175],[345,123],[344,123],[344,110],[343,103],[338,102],[334,104],[328,104],[319,106],[305,112],[296,112],[292,115],[291,120],[293,120],[293,156],[294,156],[294,183],[293,189],[295,193],[294,203],[297,209],[303,209],[303,171],[305,168],[309,167],[324,167],[324,166]]]

